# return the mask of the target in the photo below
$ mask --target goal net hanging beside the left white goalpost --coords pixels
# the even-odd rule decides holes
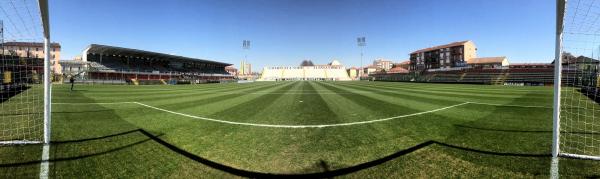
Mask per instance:
[[[40,14],[37,0],[0,1],[0,145],[44,142]]]

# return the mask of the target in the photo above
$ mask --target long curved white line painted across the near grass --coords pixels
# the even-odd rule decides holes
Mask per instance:
[[[180,116],[184,116],[184,117],[189,117],[189,118],[193,118],[193,119],[201,119],[201,120],[206,120],[206,121],[219,122],[219,123],[225,123],[225,124],[233,124],[233,125],[244,125],[244,126],[254,126],[254,127],[271,127],[271,128],[324,128],[324,127],[338,127],[338,126],[350,126],[350,125],[358,125],[358,124],[368,124],[368,123],[382,122],[382,121],[388,121],[388,120],[392,120],[392,119],[406,118],[406,117],[411,117],[411,116],[418,116],[418,115],[422,115],[422,114],[433,113],[433,112],[437,112],[437,111],[441,111],[441,110],[446,110],[446,109],[450,109],[450,108],[454,108],[454,107],[458,107],[458,106],[462,106],[462,105],[466,105],[466,104],[481,104],[481,105],[492,105],[492,106],[509,106],[509,107],[526,107],[526,108],[532,108],[532,107],[546,108],[545,106],[521,106],[521,105],[504,105],[504,104],[492,104],[492,103],[464,102],[464,103],[455,104],[455,105],[451,105],[451,106],[446,106],[446,107],[443,107],[443,108],[433,109],[433,110],[429,110],[429,111],[423,111],[423,112],[412,113],[412,114],[405,114],[405,115],[388,117],[388,118],[382,118],[382,119],[368,120],[368,121],[337,123],[337,124],[318,124],[318,125],[278,125],[278,124],[257,124],[257,123],[233,122],[233,121],[225,121],[225,120],[219,120],[219,119],[212,119],[212,118],[207,118],[207,117],[194,116],[194,115],[190,115],[190,114],[184,114],[184,113],[180,113],[180,112],[175,112],[175,111],[171,111],[171,110],[167,110],[167,109],[163,109],[163,108],[159,108],[159,107],[155,107],[155,106],[150,106],[150,105],[147,105],[147,104],[144,104],[144,103],[140,103],[140,102],[53,103],[53,104],[65,104],[65,105],[137,104],[137,105],[144,106],[144,107],[147,107],[147,108],[150,108],[150,109],[159,110],[159,111],[163,111],[163,112],[167,112],[167,113],[171,113],[171,114],[175,114],[175,115],[180,115]]]

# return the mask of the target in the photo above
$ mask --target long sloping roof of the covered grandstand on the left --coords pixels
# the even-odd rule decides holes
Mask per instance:
[[[133,56],[133,57],[141,57],[148,59],[163,59],[163,60],[176,60],[176,61],[194,61],[194,62],[202,62],[202,63],[212,63],[217,65],[229,66],[232,64],[204,60],[198,58],[190,58],[178,55],[170,55],[159,52],[151,52],[145,50],[124,48],[124,47],[115,47],[108,45],[99,45],[99,44],[91,44],[87,49],[87,53],[91,54],[104,54],[104,55],[119,55],[119,56]]]

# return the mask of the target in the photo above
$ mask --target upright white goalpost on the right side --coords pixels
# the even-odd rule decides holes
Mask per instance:
[[[567,0],[556,1],[556,42],[554,49],[554,104],[552,125],[552,157],[558,157],[560,153],[560,90],[562,74],[562,38],[563,20]]]

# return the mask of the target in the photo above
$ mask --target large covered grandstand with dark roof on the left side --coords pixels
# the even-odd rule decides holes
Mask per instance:
[[[91,44],[82,53],[86,71],[81,82],[127,84],[190,84],[233,80],[231,64],[145,50]]]

